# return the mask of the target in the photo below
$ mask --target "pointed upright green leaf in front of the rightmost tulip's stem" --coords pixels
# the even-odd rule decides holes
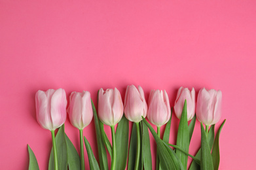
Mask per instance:
[[[200,169],[213,170],[213,161],[211,159],[211,150],[207,140],[206,131],[201,122],[201,159]]]

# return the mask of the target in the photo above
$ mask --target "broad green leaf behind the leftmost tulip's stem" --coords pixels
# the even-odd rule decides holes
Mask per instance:
[[[65,141],[64,125],[59,128],[56,135],[56,150],[58,158],[58,168],[64,170],[67,169],[67,144]],[[54,170],[53,149],[50,152],[48,169]]]

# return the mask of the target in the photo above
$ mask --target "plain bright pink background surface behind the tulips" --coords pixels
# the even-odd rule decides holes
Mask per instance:
[[[88,90],[96,103],[100,88],[117,87],[124,99],[128,84],[142,86],[146,99],[166,90],[172,106],[180,86],[221,90],[220,169],[253,169],[255,27],[256,1],[0,0],[0,169],[27,169],[27,144],[48,168],[52,142],[36,120],[37,90]],[[173,116],[170,143],[178,122]],[[68,118],[65,129],[79,149]],[[92,122],[84,135],[97,152],[94,131]],[[196,122],[191,154],[199,143]]]

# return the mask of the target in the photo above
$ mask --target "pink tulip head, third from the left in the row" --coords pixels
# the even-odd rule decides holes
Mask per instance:
[[[103,91],[100,89],[98,114],[101,122],[108,126],[115,126],[124,114],[124,105],[119,90],[115,88]]]

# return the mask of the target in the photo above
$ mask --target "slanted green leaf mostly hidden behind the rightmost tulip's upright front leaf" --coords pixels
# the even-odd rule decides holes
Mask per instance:
[[[215,124],[211,125],[209,133],[208,133],[208,143],[209,143],[209,146],[210,146],[210,150],[213,146],[213,141],[214,141],[214,127],[215,127]],[[201,159],[201,148],[198,150],[195,157],[198,160]],[[189,168],[189,170],[200,170],[200,165],[198,165],[198,163],[196,163],[195,161],[192,161],[191,167]]]

